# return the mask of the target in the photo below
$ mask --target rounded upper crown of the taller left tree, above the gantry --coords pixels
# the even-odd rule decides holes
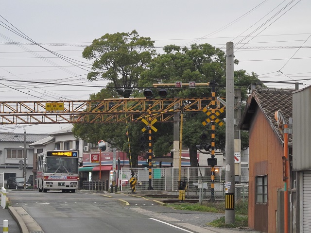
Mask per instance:
[[[131,33],[104,34],[94,39],[82,55],[91,60],[92,71],[88,80],[104,79],[113,83],[119,96],[129,98],[137,86],[140,73],[155,56],[154,41]]]

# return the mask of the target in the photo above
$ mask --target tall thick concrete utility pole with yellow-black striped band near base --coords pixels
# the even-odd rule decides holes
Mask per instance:
[[[234,211],[234,54],[233,42],[226,43],[225,122],[225,223],[235,222]]]

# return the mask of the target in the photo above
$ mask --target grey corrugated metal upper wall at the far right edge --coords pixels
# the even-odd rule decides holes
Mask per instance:
[[[311,169],[311,86],[293,92],[293,170]]]

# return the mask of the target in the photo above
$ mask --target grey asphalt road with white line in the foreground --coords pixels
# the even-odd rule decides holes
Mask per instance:
[[[173,211],[158,203],[124,194],[101,196],[88,193],[15,191],[8,197],[22,207],[44,233],[195,232],[180,222],[205,226],[220,214]],[[178,219],[178,220],[177,220]]]

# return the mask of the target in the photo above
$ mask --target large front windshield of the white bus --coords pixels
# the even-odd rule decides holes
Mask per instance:
[[[45,172],[47,173],[78,173],[78,160],[76,158],[47,158]]]

